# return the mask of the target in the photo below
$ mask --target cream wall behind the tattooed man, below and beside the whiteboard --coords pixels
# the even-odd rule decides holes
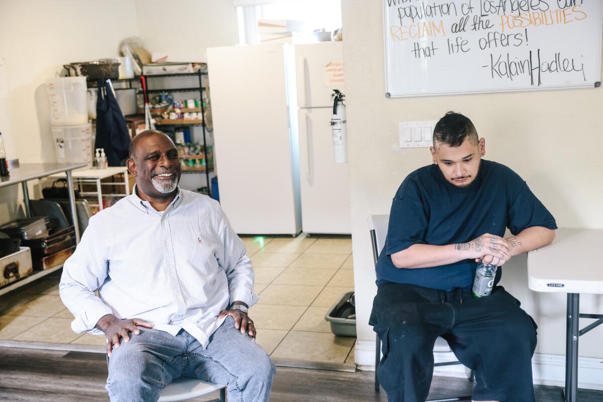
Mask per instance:
[[[448,110],[469,116],[486,139],[485,158],[520,174],[559,227],[603,228],[603,89],[387,99],[382,1],[346,0],[342,8],[359,341],[374,340],[367,215],[389,213],[406,175],[431,163],[427,148],[398,148],[399,121],[437,120]],[[563,355],[565,295],[529,291],[525,255],[504,266],[502,284],[538,323],[537,353]],[[603,296],[584,295],[581,307],[601,313]],[[603,357],[602,331],[580,339],[580,356]]]

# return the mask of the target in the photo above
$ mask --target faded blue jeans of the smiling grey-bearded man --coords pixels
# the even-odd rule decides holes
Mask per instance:
[[[276,368],[254,339],[227,317],[207,348],[185,330],[176,336],[140,328],[130,342],[113,349],[107,391],[112,402],[149,402],[178,377],[227,385],[231,402],[268,401]]]

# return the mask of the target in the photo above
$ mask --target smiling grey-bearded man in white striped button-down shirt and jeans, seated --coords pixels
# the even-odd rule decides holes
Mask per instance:
[[[157,401],[178,377],[268,401],[275,368],[247,315],[254,274],[219,204],[178,187],[180,160],[161,131],[130,145],[133,193],[90,219],[60,283],[72,328],[105,334],[112,401]],[[98,297],[95,291],[98,290]]]

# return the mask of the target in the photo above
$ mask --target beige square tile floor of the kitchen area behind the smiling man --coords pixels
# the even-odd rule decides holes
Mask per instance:
[[[354,288],[349,238],[243,237],[259,302],[251,307],[257,342],[280,359],[354,362],[355,338],[335,336],[324,315]],[[0,339],[104,346],[103,336],[76,334],[58,297],[60,271],[0,297]]]

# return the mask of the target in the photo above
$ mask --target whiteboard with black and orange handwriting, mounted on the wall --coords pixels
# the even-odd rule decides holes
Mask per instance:
[[[600,0],[382,0],[387,97],[601,85]]]

